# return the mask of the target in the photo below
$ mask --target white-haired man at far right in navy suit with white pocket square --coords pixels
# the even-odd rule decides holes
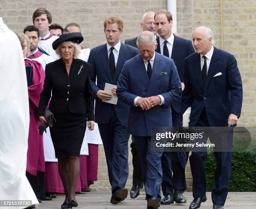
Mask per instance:
[[[213,46],[210,28],[196,28],[192,36],[196,53],[184,64],[185,89],[182,97],[183,114],[191,107],[189,126],[228,127],[236,125],[241,115],[243,87],[241,75],[232,54]],[[204,140],[207,140],[207,136]],[[225,134],[222,141],[232,140]],[[214,138],[210,137],[210,140]],[[212,190],[213,209],[223,209],[229,189],[231,152],[214,152],[217,164],[215,186]],[[206,201],[206,152],[193,152],[189,157],[193,177],[194,200],[189,209],[200,208]]]

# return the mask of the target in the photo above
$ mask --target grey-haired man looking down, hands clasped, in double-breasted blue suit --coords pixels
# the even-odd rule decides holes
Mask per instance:
[[[146,190],[147,208],[161,201],[162,151],[151,150],[151,127],[172,127],[170,104],[181,97],[182,87],[174,61],[158,54],[153,33],[137,39],[140,55],[126,61],[118,79],[118,99],[131,106],[128,132],[134,137]]]

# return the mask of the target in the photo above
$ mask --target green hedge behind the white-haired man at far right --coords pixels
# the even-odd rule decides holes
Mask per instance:
[[[208,153],[205,160],[207,191],[215,184],[215,157]],[[233,152],[229,191],[256,191],[256,153]]]

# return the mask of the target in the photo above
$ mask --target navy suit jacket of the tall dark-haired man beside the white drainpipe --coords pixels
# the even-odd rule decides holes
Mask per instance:
[[[159,54],[161,54],[159,37],[156,38],[156,42],[158,43],[156,51]],[[184,60],[187,56],[189,56],[190,54],[193,54],[194,52],[195,52],[195,49],[191,41],[174,35],[171,58],[173,59],[174,64],[177,67],[177,71],[179,73],[179,79],[181,80],[181,82],[183,82],[183,76],[184,76]],[[172,102],[172,107],[176,112],[180,112],[181,102],[182,102],[182,98]]]

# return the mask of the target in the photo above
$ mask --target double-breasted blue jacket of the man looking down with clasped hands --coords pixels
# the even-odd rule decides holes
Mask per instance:
[[[125,62],[118,79],[118,99],[131,106],[128,133],[132,135],[151,136],[151,127],[171,127],[170,104],[182,95],[182,87],[174,61],[157,52],[155,54],[150,80],[140,55]],[[149,110],[134,106],[134,99],[138,96],[151,97],[159,94],[164,97],[163,105],[157,105]]]

